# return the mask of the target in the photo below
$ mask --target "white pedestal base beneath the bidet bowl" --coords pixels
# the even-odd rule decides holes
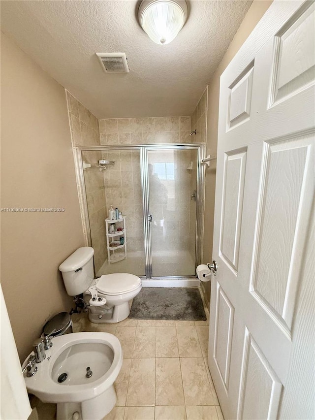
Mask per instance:
[[[57,420],[101,420],[115,406],[117,395],[114,385],[87,401],[57,404]],[[74,417],[74,413],[77,415]]]

